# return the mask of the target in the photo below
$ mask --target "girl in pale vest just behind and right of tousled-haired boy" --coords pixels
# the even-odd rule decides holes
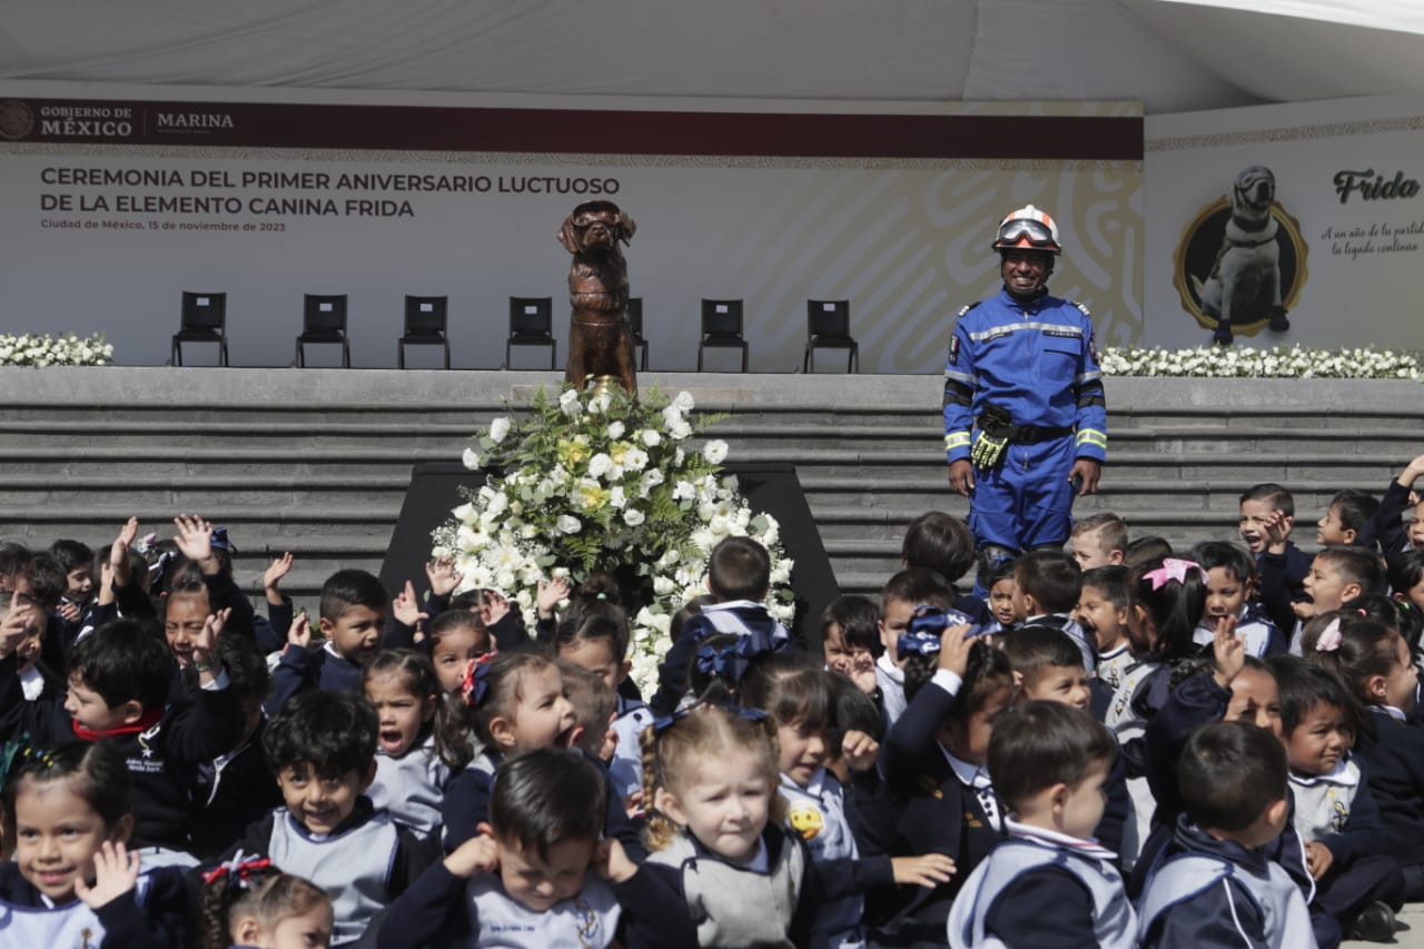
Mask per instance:
[[[362,690],[376,708],[370,802],[423,838],[437,835],[444,789],[467,747],[440,700],[434,667],[414,650],[386,650],[366,663]]]

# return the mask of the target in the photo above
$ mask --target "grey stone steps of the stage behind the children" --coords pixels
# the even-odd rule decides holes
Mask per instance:
[[[107,543],[137,514],[228,524],[238,579],[290,550],[288,587],[315,606],[342,566],[380,571],[419,463],[454,462],[470,435],[558,373],[390,369],[0,369],[0,537]],[[642,373],[728,413],[733,463],[796,467],[844,591],[897,569],[904,524],[964,513],[941,455],[938,376]],[[1235,536],[1236,499],[1279,480],[1309,529],[1341,487],[1378,493],[1424,450],[1413,382],[1109,379],[1104,493],[1134,536]],[[477,474],[471,473],[471,482]]]

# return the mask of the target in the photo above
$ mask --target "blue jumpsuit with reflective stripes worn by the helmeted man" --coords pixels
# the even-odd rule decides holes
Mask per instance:
[[[1061,547],[1072,530],[1068,472],[1075,459],[1102,462],[1108,453],[1108,408],[1088,309],[1048,294],[1021,304],[1000,291],[960,311],[944,366],[950,462],[968,460],[985,406],[1007,410],[1015,426],[1067,433],[1011,442],[997,466],[975,470],[970,530],[980,547]]]

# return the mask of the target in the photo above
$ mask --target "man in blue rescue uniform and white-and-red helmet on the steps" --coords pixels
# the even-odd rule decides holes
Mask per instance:
[[[944,366],[950,487],[970,499],[981,569],[1061,549],[1072,500],[1098,490],[1106,402],[1082,304],[1051,296],[1058,225],[1027,205],[1000,224],[1004,289],[960,311]]]

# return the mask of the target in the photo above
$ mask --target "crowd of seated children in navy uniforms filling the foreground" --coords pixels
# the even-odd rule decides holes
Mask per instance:
[[[595,573],[253,610],[234,541],[0,543],[0,945],[1334,946],[1424,901],[1424,456],[1240,541],[906,531],[815,636],[732,537],[646,704]],[[1413,522],[1404,513],[1414,504]],[[815,626],[810,623],[807,626]],[[815,633],[815,630],[812,630]]]

